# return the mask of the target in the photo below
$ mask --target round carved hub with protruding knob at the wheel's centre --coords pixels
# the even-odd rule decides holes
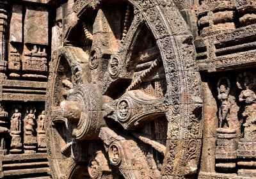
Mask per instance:
[[[70,89],[60,104],[67,118],[67,128],[77,140],[97,139],[102,118],[102,95],[95,84],[81,84]]]

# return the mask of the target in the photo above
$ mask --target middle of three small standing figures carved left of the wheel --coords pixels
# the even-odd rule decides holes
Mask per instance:
[[[32,136],[34,129],[33,127],[35,126],[34,120],[36,119],[35,117],[35,110],[29,109],[29,113],[24,119],[24,133],[26,136]]]

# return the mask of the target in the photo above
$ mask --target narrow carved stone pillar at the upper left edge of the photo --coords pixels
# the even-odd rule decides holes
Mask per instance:
[[[0,0],[0,72],[6,70],[6,29],[8,2]]]

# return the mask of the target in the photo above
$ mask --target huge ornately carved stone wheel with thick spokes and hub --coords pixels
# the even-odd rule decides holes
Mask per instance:
[[[52,177],[193,178],[202,94],[175,4],[78,0],[72,15],[47,91]]]

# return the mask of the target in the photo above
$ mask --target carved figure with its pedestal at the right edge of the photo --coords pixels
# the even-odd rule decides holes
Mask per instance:
[[[241,94],[239,95],[239,101],[243,104],[242,117],[245,120],[242,128],[244,130],[244,136],[239,140],[237,150],[237,156],[243,157],[243,161],[237,163],[238,166],[241,167],[237,171],[238,175],[241,176],[255,176],[256,173],[256,167],[250,167],[250,164],[246,162],[246,160],[250,160],[250,152],[256,149],[255,77],[256,75],[252,72],[244,72],[242,74],[239,74],[237,77],[237,86],[239,89],[242,89]],[[250,169],[247,169],[248,167],[250,167]]]

